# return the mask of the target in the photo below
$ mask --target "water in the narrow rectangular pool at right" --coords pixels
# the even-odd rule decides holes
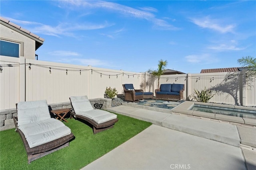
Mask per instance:
[[[194,105],[194,107],[192,107],[190,110],[235,117],[243,117],[248,119],[256,119],[256,111],[248,111],[243,109],[230,109],[214,106]]]

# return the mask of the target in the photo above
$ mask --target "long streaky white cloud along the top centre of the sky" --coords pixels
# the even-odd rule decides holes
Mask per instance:
[[[144,10],[138,10],[135,8],[131,8],[129,6],[124,6],[121,4],[117,4],[114,2],[106,2],[106,1],[60,1],[62,5],[66,5],[67,8],[101,8],[104,10],[108,10],[110,12],[117,12],[118,14],[122,14],[124,16],[129,16],[133,18],[139,18],[143,20],[147,20],[154,24],[154,28],[160,28],[164,30],[177,30],[178,28],[172,26],[165,20],[161,20],[156,18],[154,14],[152,14],[152,10],[156,12],[156,9],[151,7],[145,7]]]

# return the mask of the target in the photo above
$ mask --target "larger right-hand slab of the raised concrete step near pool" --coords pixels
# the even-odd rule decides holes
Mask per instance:
[[[240,147],[235,125],[172,114],[162,122],[162,127]]]

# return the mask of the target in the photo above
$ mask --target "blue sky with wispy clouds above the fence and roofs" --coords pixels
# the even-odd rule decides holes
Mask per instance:
[[[239,67],[256,57],[256,1],[0,1],[45,39],[39,60],[144,72]]]

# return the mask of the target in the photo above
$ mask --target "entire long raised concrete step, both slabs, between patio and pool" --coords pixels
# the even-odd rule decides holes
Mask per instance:
[[[138,105],[137,107],[141,106]],[[154,125],[240,147],[240,137],[235,125],[124,105],[108,108],[108,111],[148,121]]]

